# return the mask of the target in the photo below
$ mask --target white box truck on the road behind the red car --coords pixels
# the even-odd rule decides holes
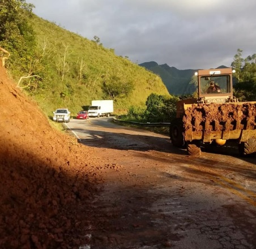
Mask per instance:
[[[113,113],[113,100],[92,100],[92,105],[89,106],[89,117],[109,117]]]

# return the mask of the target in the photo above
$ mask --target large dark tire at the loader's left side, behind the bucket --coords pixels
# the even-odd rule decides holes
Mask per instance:
[[[170,140],[174,146],[184,147],[184,126],[181,118],[177,118],[171,123]]]

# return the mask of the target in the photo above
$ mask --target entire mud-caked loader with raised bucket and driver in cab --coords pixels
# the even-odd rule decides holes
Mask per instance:
[[[234,71],[233,71],[234,72]],[[198,98],[177,102],[170,123],[170,140],[199,155],[200,144],[236,141],[241,156],[256,153],[256,101],[238,102],[233,96],[232,68],[198,70]]]

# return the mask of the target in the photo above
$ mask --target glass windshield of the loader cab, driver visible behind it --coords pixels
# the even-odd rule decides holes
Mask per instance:
[[[231,77],[230,75],[202,76],[200,77],[200,93],[230,93]]]

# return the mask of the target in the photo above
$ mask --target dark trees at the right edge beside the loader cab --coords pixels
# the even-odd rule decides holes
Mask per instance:
[[[236,70],[234,77],[234,95],[240,101],[256,100],[256,54],[242,58],[242,50],[238,49],[231,66]]]

